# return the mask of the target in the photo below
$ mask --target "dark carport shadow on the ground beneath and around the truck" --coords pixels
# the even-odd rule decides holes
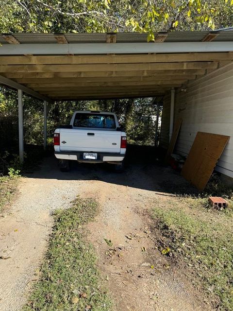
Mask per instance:
[[[25,173],[31,178],[58,180],[101,180],[110,184],[128,186],[149,191],[164,192],[164,195],[197,195],[179,172],[163,164],[164,153],[150,146],[129,146],[126,167],[123,173],[116,173],[111,164],[89,164],[70,161],[70,171],[60,172],[58,160],[48,153],[40,169]],[[27,171],[26,171],[27,172]]]

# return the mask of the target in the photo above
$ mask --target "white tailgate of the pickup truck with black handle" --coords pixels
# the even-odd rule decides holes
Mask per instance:
[[[120,153],[121,132],[60,129],[60,151]]]

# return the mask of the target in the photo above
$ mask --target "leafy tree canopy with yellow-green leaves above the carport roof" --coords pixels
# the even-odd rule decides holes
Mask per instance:
[[[1,32],[153,32],[233,25],[233,0],[1,0]]]

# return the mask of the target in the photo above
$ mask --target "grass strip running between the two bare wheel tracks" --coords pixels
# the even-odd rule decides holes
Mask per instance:
[[[96,255],[84,241],[85,227],[98,204],[77,199],[58,210],[41,276],[23,311],[110,311],[111,301],[101,285]]]

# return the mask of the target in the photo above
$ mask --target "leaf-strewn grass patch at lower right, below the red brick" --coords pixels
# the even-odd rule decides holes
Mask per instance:
[[[217,310],[233,311],[232,213],[204,206],[205,199],[188,197],[155,207],[161,249],[169,247],[173,258],[192,273],[190,279],[196,276],[194,283],[209,294]]]

